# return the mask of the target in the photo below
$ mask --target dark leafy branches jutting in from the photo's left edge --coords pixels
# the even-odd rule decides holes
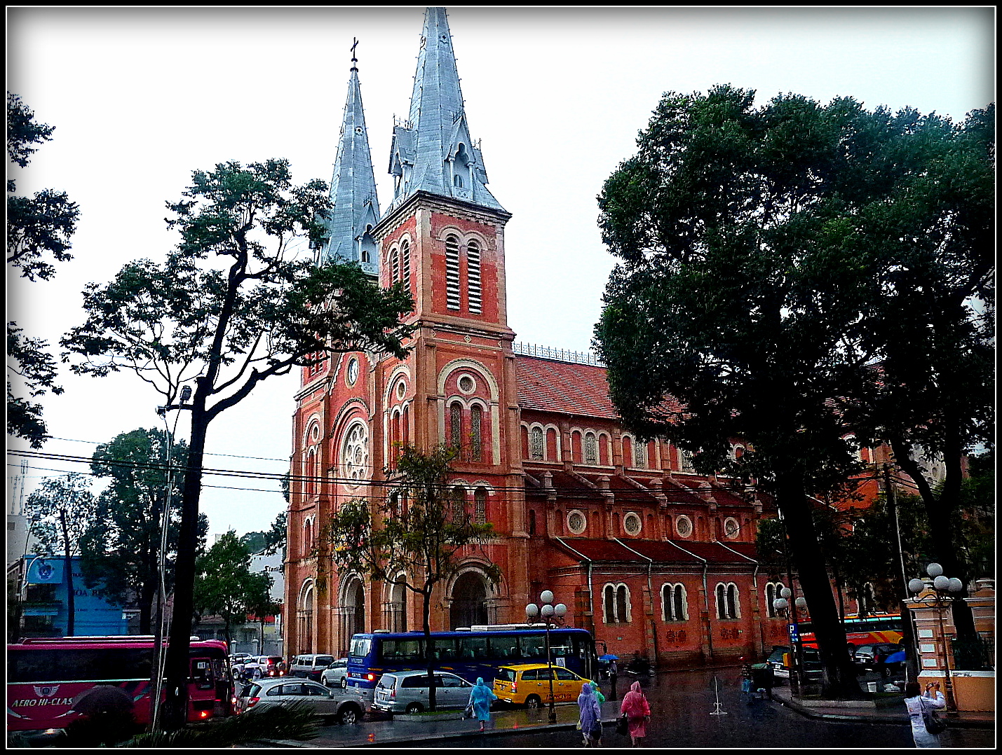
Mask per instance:
[[[35,121],[35,114],[16,94],[7,92],[7,159],[24,168],[37,151],[35,144],[52,138],[52,126]],[[62,191],[43,189],[33,196],[16,194],[16,182],[7,179],[7,264],[28,280],[49,280],[55,274],[52,261],[72,259],[69,238],[80,211]],[[49,261],[47,255],[51,255]],[[47,438],[42,407],[31,399],[46,392],[61,394],[55,385],[55,358],[47,343],[27,336],[17,322],[7,322],[7,434],[27,440],[40,449]],[[17,396],[11,375],[28,398]]]

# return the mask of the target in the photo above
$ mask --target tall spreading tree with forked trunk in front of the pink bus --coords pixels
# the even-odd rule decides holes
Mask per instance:
[[[86,321],[61,340],[77,373],[134,371],[165,405],[190,411],[167,652],[165,723],[184,722],[192,616],[196,523],[209,424],[275,375],[356,350],[404,356],[413,308],[402,284],[379,288],[354,264],[314,265],[297,258],[306,239],[320,241],[328,187],[294,186],[286,160],[195,171],[167,208],[179,234],[166,260],[125,265],[106,285],[84,291]],[[183,405],[182,384],[194,391]],[[187,388],[187,386],[185,386]]]

